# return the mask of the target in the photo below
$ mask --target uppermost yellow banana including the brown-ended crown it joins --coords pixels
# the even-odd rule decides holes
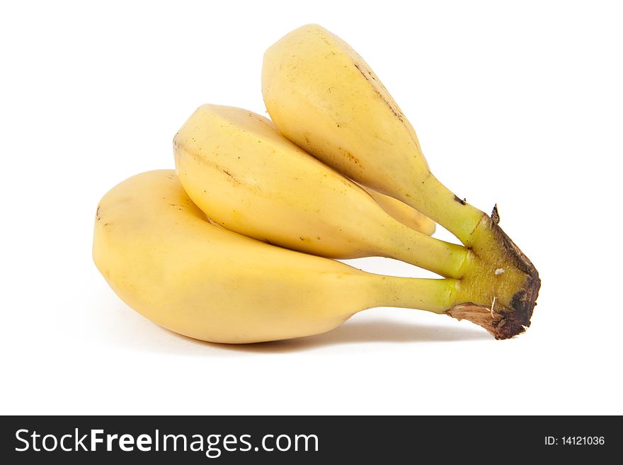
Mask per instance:
[[[346,42],[319,25],[285,35],[265,52],[262,91],[285,137],[457,236],[474,254],[463,285],[479,289],[478,300],[491,302],[518,332],[530,326],[540,287],[536,268],[498,226],[497,214],[472,207],[433,176],[413,127]]]

